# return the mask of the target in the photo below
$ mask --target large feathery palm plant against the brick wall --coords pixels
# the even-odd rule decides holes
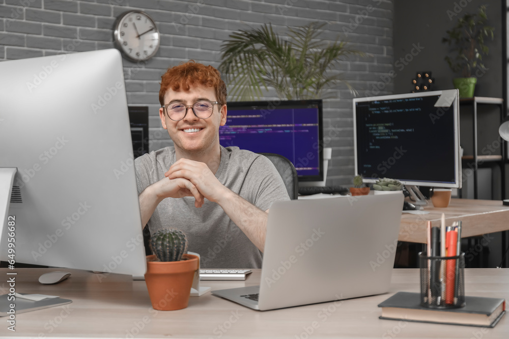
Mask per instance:
[[[330,74],[350,54],[364,55],[347,42],[323,42],[318,37],[325,23],[289,27],[288,40],[274,33],[272,25],[239,30],[221,46],[219,71],[229,82],[231,95],[240,100],[262,97],[262,86],[273,87],[281,99],[320,99],[341,74]]]

